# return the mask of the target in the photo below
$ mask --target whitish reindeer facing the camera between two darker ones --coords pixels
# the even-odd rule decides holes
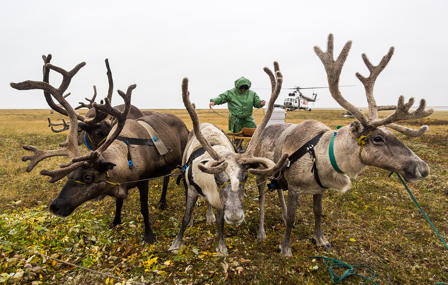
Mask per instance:
[[[268,68],[264,69],[271,78],[272,94],[268,110],[245,153],[236,153],[233,144],[217,126],[199,123],[198,114],[190,103],[188,79],[184,78],[182,99],[193,121],[193,131],[190,133],[190,139],[183,156],[187,202],[179,234],[168,251],[177,253],[182,247],[185,229],[193,219],[194,205],[198,197],[201,196],[209,205],[218,209],[218,246],[216,251],[219,254],[227,255],[227,248],[224,244],[224,221],[227,224],[239,224],[244,220],[243,198],[244,185],[248,176],[247,171],[260,175],[272,175],[286,167],[287,154],[284,154],[277,164],[270,159],[254,157],[252,154],[261,131],[272,115],[274,102],[280,93],[282,74],[278,63],[275,62],[274,66],[276,78]],[[201,151],[201,146],[203,151]],[[265,169],[255,169],[260,166]]]

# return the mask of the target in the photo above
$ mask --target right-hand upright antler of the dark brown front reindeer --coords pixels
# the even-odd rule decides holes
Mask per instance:
[[[124,100],[124,110],[122,112],[113,108],[111,106],[111,102],[109,102],[108,98],[105,98],[105,104],[94,103],[94,108],[97,111],[101,111],[105,114],[109,114],[109,115],[115,117],[117,120],[117,123],[114,126],[114,129],[111,130],[111,133],[109,134],[108,138],[106,139],[106,142],[104,142],[97,149],[98,153],[102,153],[103,151],[105,151],[109,147],[109,145],[111,145],[111,143],[116,139],[116,137],[118,137],[121,130],[123,129],[124,124],[126,123],[127,114],[129,114],[129,110],[130,110],[130,101],[131,101],[132,90],[134,90],[135,87],[137,87],[137,85],[135,85],[135,84],[130,85],[127,88],[126,94],[124,94],[124,92],[122,92],[121,90],[117,90],[118,94]]]

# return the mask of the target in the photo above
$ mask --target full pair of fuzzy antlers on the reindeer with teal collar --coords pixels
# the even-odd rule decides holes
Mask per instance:
[[[336,61],[333,57],[333,34],[328,36],[328,48],[327,52],[323,52],[319,47],[315,46],[314,51],[321,59],[324,64],[325,70],[327,72],[327,78],[329,83],[330,93],[332,97],[336,100],[336,102],[343,107],[345,110],[353,114],[353,116],[361,122],[364,127],[367,128],[377,128],[380,126],[387,126],[391,129],[394,129],[404,135],[417,137],[423,135],[427,130],[427,126],[423,126],[419,130],[413,130],[410,128],[406,128],[403,126],[398,126],[396,124],[392,124],[401,120],[412,120],[412,119],[421,119],[428,117],[434,112],[434,109],[426,109],[426,101],[422,99],[420,101],[419,108],[410,113],[409,110],[414,104],[414,98],[409,99],[408,103],[404,102],[404,97],[400,96],[398,99],[397,106],[377,106],[375,99],[373,97],[373,87],[375,85],[376,78],[383,71],[386,65],[389,63],[392,55],[394,53],[394,47],[389,49],[389,52],[381,59],[380,63],[377,66],[374,66],[365,54],[362,54],[362,60],[364,61],[367,69],[370,71],[370,75],[366,78],[356,73],[356,77],[361,81],[364,85],[365,94],[367,98],[367,103],[369,106],[369,118],[367,119],[365,115],[355,106],[347,102],[339,91],[339,77],[342,66],[347,58],[348,51],[351,47],[351,41],[347,41],[347,43],[342,48],[339,56]],[[395,112],[384,119],[378,119],[378,111],[383,110],[395,110]]]

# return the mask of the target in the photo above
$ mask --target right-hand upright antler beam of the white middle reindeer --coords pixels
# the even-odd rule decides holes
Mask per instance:
[[[282,83],[283,83],[283,75],[280,72],[280,67],[278,62],[274,61],[274,70],[275,70],[275,78],[272,74],[272,71],[265,67],[263,68],[264,72],[267,73],[271,80],[271,97],[269,98],[268,108],[266,110],[266,113],[264,114],[263,120],[261,120],[261,123],[258,125],[257,129],[255,130],[255,133],[252,135],[252,139],[249,142],[249,145],[247,146],[246,151],[244,154],[252,155],[253,151],[255,150],[255,146],[258,143],[258,140],[261,137],[261,133],[263,132],[264,128],[267,125],[267,122],[271,118],[272,112],[274,110],[274,103],[275,100],[277,100],[278,95],[280,94],[280,91],[282,89]],[[275,80],[273,80],[275,79]]]

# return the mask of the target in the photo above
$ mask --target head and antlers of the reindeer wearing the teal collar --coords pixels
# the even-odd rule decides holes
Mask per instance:
[[[359,149],[359,161],[357,163],[359,163],[360,167],[372,165],[388,171],[397,172],[408,182],[416,182],[425,178],[430,172],[428,165],[385,127],[409,137],[419,137],[428,130],[428,126],[422,126],[419,130],[414,130],[397,125],[395,122],[425,118],[430,116],[434,110],[425,110],[426,101],[422,99],[417,110],[409,112],[414,104],[414,98],[411,98],[408,103],[405,103],[403,96],[399,97],[396,106],[376,105],[373,97],[373,86],[375,85],[376,78],[392,57],[394,48],[391,47],[377,66],[372,65],[367,56],[362,54],[362,59],[370,71],[370,75],[365,78],[361,74],[356,73],[356,77],[365,88],[369,106],[369,118],[367,118],[358,108],[346,101],[339,91],[339,76],[350,47],[351,41],[348,41],[342,48],[337,59],[334,60],[333,35],[330,34],[328,37],[327,52],[323,52],[317,46],[314,47],[314,50],[324,64],[332,97],[341,107],[353,114],[357,120],[348,127],[341,129],[341,132],[349,132],[352,140],[357,141]],[[395,112],[384,119],[379,119],[378,111],[383,110],[395,110]]]

